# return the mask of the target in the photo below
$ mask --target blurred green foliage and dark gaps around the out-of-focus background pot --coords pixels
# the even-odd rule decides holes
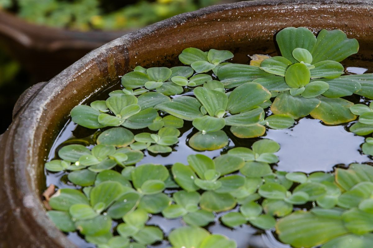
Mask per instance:
[[[0,13],[27,22],[77,30],[136,30],[160,20],[232,0],[0,0]],[[1,44],[1,42],[0,42]],[[35,75],[0,45],[0,134],[12,121],[12,109],[26,88],[38,83]],[[29,58],[32,60],[33,58]],[[74,61],[72,61],[74,62]],[[71,62],[71,63],[72,63]],[[39,77],[40,78],[40,77]],[[43,78],[48,81],[50,78]]]

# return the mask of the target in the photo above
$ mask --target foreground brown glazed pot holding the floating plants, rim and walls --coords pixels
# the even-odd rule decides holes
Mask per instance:
[[[40,200],[47,150],[73,106],[113,85],[135,65],[176,61],[175,54],[188,46],[219,49],[228,43],[249,44],[256,38],[272,44],[276,30],[293,25],[315,32],[340,28],[372,44],[372,9],[370,0],[223,4],[172,17],[91,51],[42,86],[0,138],[0,247],[75,247],[48,219]],[[223,20],[231,26],[224,26]],[[167,52],[173,57],[164,54],[166,45],[172,46]]]

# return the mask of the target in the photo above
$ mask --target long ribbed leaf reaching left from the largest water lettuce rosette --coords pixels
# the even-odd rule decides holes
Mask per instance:
[[[225,88],[234,88],[256,78],[273,77],[273,74],[253,65],[228,64],[220,67],[217,76]]]

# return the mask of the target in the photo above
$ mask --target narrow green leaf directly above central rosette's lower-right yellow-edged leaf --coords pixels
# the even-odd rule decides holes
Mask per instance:
[[[224,117],[225,125],[231,126],[251,126],[260,122],[264,117],[264,110],[261,107],[256,109]]]

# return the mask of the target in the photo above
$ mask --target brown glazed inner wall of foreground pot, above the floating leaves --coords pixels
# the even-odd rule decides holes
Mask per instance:
[[[235,4],[237,7],[242,5]],[[210,8],[212,13],[206,15],[194,12],[177,16],[123,36],[94,50],[53,78],[41,92],[55,94],[49,96],[51,100],[47,100],[44,106],[34,136],[34,141],[41,141],[33,145],[33,153],[38,156],[31,158],[38,164],[35,171],[37,180],[32,181],[39,194],[46,187],[43,165],[48,151],[65,125],[70,110],[93,93],[115,84],[121,75],[137,65],[174,66],[179,64],[178,54],[188,47],[275,56],[273,37],[287,26],[305,26],[311,30],[339,28],[360,43],[359,54],[351,57],[358,59],[357,67],[373,61],[373,30],[369,29],[368,23],[371,22],[367,21],[372,19],[370,10],[338,4],[316,8],[310,4],[298,4],[297,7],[283,4],[224,9]],[[245,62],[248,57],[238,59]],[[54,87],[60,87],[59,91],[56,92]]]

